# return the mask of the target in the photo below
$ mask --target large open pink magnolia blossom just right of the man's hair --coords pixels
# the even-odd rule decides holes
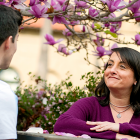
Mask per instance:
[[[46,7],[46,5],[37,4],[31,6],[29,12],[37,18],[41,18],[41,17],[47,18],[48,15],[45,14],[47,12],[47,9],[48,8]]]

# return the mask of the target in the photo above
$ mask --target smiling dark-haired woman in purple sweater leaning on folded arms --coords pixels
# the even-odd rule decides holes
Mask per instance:
[[[140,53],[126,47],[113,49],[95,96],[75,102],[58,118],[54,132],[139,139]]]

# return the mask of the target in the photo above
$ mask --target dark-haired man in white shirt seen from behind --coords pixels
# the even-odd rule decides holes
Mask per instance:
[[[20,12],[0,5],[0,68],[7,69],[17,49]],[[17,96],[0,80],[0,140],[16,139],[18,113]]]

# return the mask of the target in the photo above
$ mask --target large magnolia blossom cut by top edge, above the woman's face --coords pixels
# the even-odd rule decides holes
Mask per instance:
[[[109,11],[114,12],[118,9],[125,7],[126,3],[123,0],[101,0],[104,4],[107,4]]]

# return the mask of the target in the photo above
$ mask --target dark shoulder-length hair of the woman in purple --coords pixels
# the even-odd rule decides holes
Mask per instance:
[[[137,84],[133,85],[133,89],[130,97],[130,104],[132,105],[134,115],[140,114],[140,53],[134,49],[122,47],[112,49],[112,53],[115,52],[120,55],[122,61],[126,62],[129,67],[134,71],[134,76],[136,78]],[[119,57],[118,55],[118,57]],[[108,64],[105,67],[108,67]],[[109,104],[109,94],[110,91],[105,84],[104,76],[101,82],[97,85],[95,89],[95,96],[98,98],[99,103],[102,106]]]

